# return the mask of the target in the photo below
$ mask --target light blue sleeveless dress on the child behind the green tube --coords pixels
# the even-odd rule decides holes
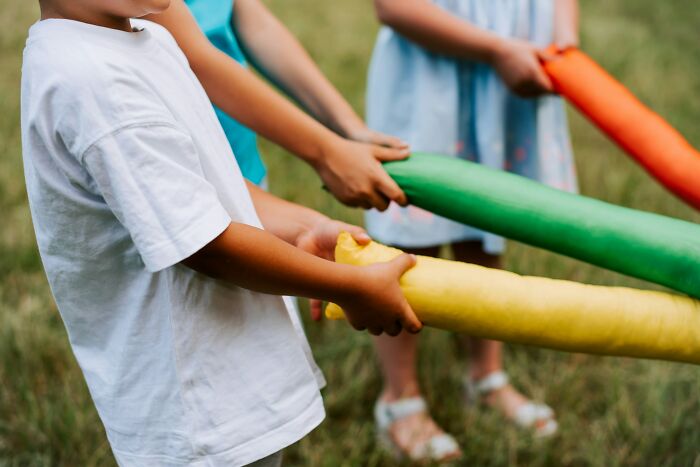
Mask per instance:
[[[502,37],[552,42],[556,0],[434,0],[452,14]],[[575,192],[577,182],[564,103],[520,99],[483,63],[428,52],[383,27],[370,64],[370,128],[403,138],[414,151],[434,152],[509,170]],[[482,240],[499,254],[501,237],[416,207],[392,204],[366,216],[378,241],[404,248]]]

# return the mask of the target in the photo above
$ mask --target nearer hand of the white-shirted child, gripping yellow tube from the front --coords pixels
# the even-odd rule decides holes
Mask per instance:
[[[339,300],[348,321],[357,330],[378,336],[398,335],[405,329],[417,333],[423,328],[399,287],[399,279],[416,264],[416,257],[403,254],[388,263],[362,267],[355,293]]]

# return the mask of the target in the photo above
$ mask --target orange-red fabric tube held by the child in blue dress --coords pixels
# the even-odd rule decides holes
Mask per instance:
[[[653,177],[700,209],[700,152],[663,118],[577,49],[557,52],[543,66],[555,90]]]

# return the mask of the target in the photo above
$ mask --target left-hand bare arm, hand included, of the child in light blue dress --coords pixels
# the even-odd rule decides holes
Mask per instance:
[[[403,36],[439,54],[492,65],[521,96],[552,91],[532,44],[501,38],[428,0],[374,0],[374,5],[380,21]]]

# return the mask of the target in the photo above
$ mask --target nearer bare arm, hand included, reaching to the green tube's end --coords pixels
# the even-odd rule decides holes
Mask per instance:
[[[408,148],[349,141],[299,110],[253,73],[214,47],[182,0],[148,19],[168,28],[187,56],[209,98],[224,112],[316,169],[338,200],[383,210],[406,196],[381,167],[403,159]]]

